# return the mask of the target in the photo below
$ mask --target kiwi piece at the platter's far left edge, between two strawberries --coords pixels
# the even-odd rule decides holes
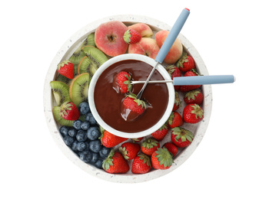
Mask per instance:
[[[71,101],[68,84],[62,81],[51,81],[50,86],[58,106],[61,106],[62,103]]]

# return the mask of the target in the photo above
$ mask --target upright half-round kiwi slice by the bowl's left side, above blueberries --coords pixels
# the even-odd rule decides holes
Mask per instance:
[[[69,95],[75,106],[79,106],[88,97],[90,75],[89,73],[81,73],[71,81],[69,86]]]

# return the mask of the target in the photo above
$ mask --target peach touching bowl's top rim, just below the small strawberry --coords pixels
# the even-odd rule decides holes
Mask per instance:
[[[129,45],[128,54],[142,54],[155,59],[159,50],[160,48],[155,39],[141,38],[138,43]]]

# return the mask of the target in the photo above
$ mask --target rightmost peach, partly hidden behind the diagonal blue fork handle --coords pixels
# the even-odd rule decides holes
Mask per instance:
[[[158,31],[155,34],[155,41],[158,44],[158,47],[161,47],[162,44],[164,44],[165,39],[167,38],[167,35],[169,34],[169,31]],[[170,51],[168,51],[168,54],[165,57],[165,63],[166,64],[175,64],[178,59],[181,57],[183,52],[183,47],[181,44],[181,41],[176,38],[175,43],[172,45]]]

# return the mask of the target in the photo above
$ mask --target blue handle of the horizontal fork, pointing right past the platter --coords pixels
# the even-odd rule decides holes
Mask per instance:
[[[204,85],[215,83],[234,83],[234,75],[209,75],[209,76],[191,76],[191,77],[174,77],[173,85]]]

